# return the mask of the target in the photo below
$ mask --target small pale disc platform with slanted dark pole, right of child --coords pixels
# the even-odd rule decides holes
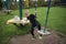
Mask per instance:
[[[48,21],[50,8],[51,8],[51,0],[48,0],[48,6],[47,6],[47,12],[46,12],[46,20],[45,20],[44,30],[38,31],[40,34],[46,34],[46,35],[51,34],[51,32],[48,32],[48,31],[46,30],[47,21]]]

